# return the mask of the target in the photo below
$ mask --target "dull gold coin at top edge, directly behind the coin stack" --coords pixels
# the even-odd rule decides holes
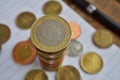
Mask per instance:
[[[43,12],[45,14],[60,14],[62,10],[62,6],[59,2],[57,1],[48,1],[44,6],[43,6]]]

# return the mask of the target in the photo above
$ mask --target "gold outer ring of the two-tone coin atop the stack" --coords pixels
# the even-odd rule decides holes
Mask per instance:
[[[61,43],[59,43],[58,45],[55,45],[55,46],[46,46],[46,45],[42,44],[38,40],[37,35],[36,35],[36,31],[37,31],[39,25],[43,21],[46,21],[48,19],[60,22],[63,25],[63,27],[65,29],[65,32],[66,32],[64,40],[61,41]],[[57,51],[60,51],[60,50],[64,49],[69,44],[70,39],[71,39],[71,29],[70,29],[69,24],[67,23],[67,21],[65,19],[63,19],[62,17],[57,16],[57,15],[46,15],[46,16],[43,16],[43,17],[39,18],[38,20],[36,20],[34,22],[34,24],[32,25],[30,34],[31,34],[31,40],[32,40],[33,44],[38,49],[40,49],[41,51],[45,51],[45,52],[57,52]]]

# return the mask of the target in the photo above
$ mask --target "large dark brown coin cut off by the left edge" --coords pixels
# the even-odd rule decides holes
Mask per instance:
[[[5,43],[10,38],[10,29],[7,25],[0,24],[0,43]]]

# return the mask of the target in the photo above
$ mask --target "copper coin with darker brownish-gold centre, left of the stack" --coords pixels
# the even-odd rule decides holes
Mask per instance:
[[[31,63],[36,57],[37,51],[29,41],[19,42],[13,49],[13,59],[19,64]]]

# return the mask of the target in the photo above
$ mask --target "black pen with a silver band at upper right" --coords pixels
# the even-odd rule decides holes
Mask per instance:
[[[120,24],[116,23],[112,19],[110,19],[105,14],[101,13],[96,6],[90,4],[86,0],[71,0],[78,7],[90,13],[93,17],[98,19],[101,23],[105,24],[107,28],[113,30],[115,33],[120,36]]]

